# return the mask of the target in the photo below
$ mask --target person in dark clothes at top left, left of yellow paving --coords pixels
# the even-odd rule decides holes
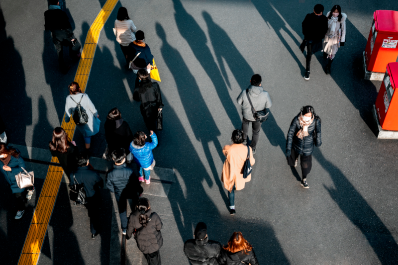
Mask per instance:
[[[79,60],[81,45],[72,31],[68,15],[61,9],[58,0],[49,0],[50,6],[44,12],[44,28],[50,30],[53,35],[53,43],[57,49],[60,71],[67,74],[70,66],[64,63],[64,48],[69,47],[69,56],[72,60]]]

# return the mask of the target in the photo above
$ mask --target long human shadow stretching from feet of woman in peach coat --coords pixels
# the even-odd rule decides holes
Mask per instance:
[[[221,196],[223,197],[225,203],[227,203],[228,198],[225,195],[223,185],[218,177],[217,169],[209,148],[209,144],[212,142],[221,161],[224,161],[225,157],[222,154],[222,146],[217,138],[217,136],[221,135],[221,133],[218,130],[218,127],[215,124],[209,109],[207,108],[206,102],[203,99],[203,95],[200,93],[200,89],[194,76],[184,62],[183,57],[168,43],[166,32],[162,25],[156,23],[155,28],[156,33],[162,40],[162,47],[160,48],[160,51],[176,82],[177,90],[179,92],[181,102],[183,103],[184,110],[187,114],[191,128],[196,139],[202,144],[203,151],[207,158],[207,162],[210,165],[214,180],[218,186],[218,189],[220,190]],[[189,89],[186,89],[187,84],[190,84]],[[198,114],[200,115],[200,118],[198,118]],[[207,184],[211,187],[213,181],[210,177],[205,177]]]

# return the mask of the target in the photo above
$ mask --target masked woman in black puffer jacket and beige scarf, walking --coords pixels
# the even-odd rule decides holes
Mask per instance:
[[[317,147],[322,144],[320,124],[321,119],[315,114],[312,106],[302,107],[290,124],[286,140],[286,155],[291,167],[297,167],[298,157],[300,157],[301,186],[304,188],[309,188],[307,175],[312,168],[314,144]]]

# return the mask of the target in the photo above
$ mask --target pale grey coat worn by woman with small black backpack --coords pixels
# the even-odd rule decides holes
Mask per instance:
[[[87,115],[89,116],[89,121],[85,125],[76,125],[79,131],[83,134],[83,137],[90,137],[97,134],[100,131],[100,119],[97,118],[97,109],[94,106],[93,102],[90,100],[90,97],[87,94],[79,93],[76,95],[68,95],[66,97],[66,104],[65,104],[65,122],[69,122],[71,119],[71,115],[76,108],[76,102],[79,103],[80,99],[82,98],[82,102],[80,104],[86,110]],[[75,100],[73,101],[72,100]]]

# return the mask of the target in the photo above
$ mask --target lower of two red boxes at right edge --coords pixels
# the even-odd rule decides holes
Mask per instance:
[[[389,63],[376,98],[376,110],[383,130],[398,131],[398,63]]]

